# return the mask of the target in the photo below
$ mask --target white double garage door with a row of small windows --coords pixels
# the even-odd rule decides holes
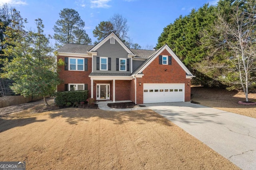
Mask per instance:
[[[184,102],[185,84],[143,84],[144,103]]]

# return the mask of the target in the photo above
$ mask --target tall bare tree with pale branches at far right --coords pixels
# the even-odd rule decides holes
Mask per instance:
[[[248,102],[248,88],[256,80],[256,5],[255,0],[235,1],[232,14],[218,14],[216,31],[220,49],[225,49],[228,67],[222,80],[243,89]],[[215,40],[217,40],[215,38]]]

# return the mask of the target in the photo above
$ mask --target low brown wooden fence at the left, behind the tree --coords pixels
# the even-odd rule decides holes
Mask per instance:
[[[34,100],[42,99],[42,97],[27,97],[24,96],[3,96],[0,97],[0,108],[7,107],[7,106],[13,106],[17,104],[24,104],[28,103]]]

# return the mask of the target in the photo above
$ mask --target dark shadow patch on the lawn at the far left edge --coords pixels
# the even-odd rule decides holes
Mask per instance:
[[[6,117],[7,119],[4,119],[4,117]],[[46,120],[36,120],[36,117],[3,116],[0,117],[0,133],[14,127],[25,126],[30,123],[43,121]]]

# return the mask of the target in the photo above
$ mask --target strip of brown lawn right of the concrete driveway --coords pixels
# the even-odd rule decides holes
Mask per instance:
[[[200,105],[256,118],[256,105],[245,106],[238,104],[238,101],[245,101],[245,95],[242,91],[192,87],[191,94],[191,100],[199,102]],[[256,93],[250,93],[249,99],[252,102],[256,102]]]

